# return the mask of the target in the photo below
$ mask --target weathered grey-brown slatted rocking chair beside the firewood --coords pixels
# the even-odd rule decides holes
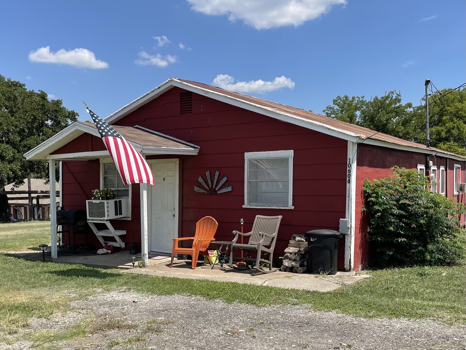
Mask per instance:
[[[280,226],[281,220],[282,215],[257,215],[250,232],[242,233],[236,230],[233,231],[235,236],[230,250],[230,262],[228,263],[228,266],[234,269],[240,269],[233,265],[233,261],[246,261],[255,262],[254,268],[263,273],[270,273],[278,270],[277,268],[272,268],[272,258],[275,242],[277,241],[278,227]],[[238,243],[240,235],[249,236],[247,244]],[[234,257],[233,252],[235,249],[245,251],[246,257]],[[256,258],[250,258],[251,252],[256,253]],[[268,264],[268,270],[261,266],[262,263]]]

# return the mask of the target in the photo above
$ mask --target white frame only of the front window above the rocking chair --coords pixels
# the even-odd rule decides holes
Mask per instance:
[[[248,173],[250,159],[288,158],[288,206],[254,206],[248,205]],[[293,207],[293,150],[245,152],[244,153],[244,205],[243,208],[294,209]]]

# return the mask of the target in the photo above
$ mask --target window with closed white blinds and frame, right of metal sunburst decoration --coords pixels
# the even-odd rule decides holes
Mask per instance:
[[[293,151],[245,153],[245,206],[292,207]]]

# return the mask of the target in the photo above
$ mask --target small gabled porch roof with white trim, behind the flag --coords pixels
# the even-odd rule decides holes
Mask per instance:
[[[141,126],[112,125],[133,147],[143,155],[197,155],[200,147],[176,139],[174,137],[153,131]],[[94,123],[74,122],[65,129],[53,135],[50,139],[40,143],[32,150],[26,152],[27,160],[83,160],[109,157],[107,150],[76,152],[67,154],[54,154],[55,151],[75,140],[84,133],[100,138],[100,134]]]

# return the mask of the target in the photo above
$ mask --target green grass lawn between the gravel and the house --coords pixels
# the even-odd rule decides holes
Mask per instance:
[[[17,224],[7,224],[8,227],[14,225]],[[15,227],[22,229],[26,225]],[[0,225],[0,235],[5,232],[3,227]],[[29,235],[29,232],[24,230],[22,234]],[[18,244],[13,242],[22,240],[16,237],[5,239],[12,236],[15,234],[2,235],[0,241],[7,241],[2,246],[17,250]],[[41,236],[38,237],[40,241]],[[27,261],[3,253],[0,254],[0,328],[14,332],[15,328],[26,325],[29,317],[47,317],[69,309],[71,301],[93,295],[97,290],[117,288],[153,295],[189,294],[257,306],[307,304],[315,310],[335,310],[364,317],[432,318],[451,324],[466,324],[465,264],[365,273],[372,277],[321,293],[233,282],[123,274],[116,269]]]

